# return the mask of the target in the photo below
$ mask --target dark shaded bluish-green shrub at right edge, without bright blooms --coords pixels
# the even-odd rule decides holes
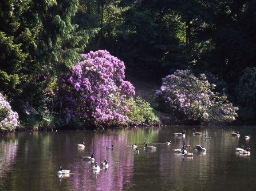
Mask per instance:
[[[239,117],[255,120],[256,114],[256,67],[247,67],[239,78],[237,86],[238,104],[241,106]]]

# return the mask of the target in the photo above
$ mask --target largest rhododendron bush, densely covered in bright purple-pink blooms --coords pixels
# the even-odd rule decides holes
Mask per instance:
[[[135,95],[133,85],[124,81],[124,63],[106,50],[82,54],[82,61],[61,79],[65,120],[90,125],[113,125],[127,121]]]

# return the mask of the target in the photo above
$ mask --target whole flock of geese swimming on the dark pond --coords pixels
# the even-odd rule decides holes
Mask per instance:
[[[196,132],[196,129],[194,129],[194,132],[193,132],[193,135],[194,136],[202,136],[202,132]],[[185,138],[186,137],[186,131],[183,130],[182,133],[174,133],[174,136],[175,137],[183,137]],[[239,138],[240,137],[240,133],[237,131],[235,133],[231,133],[231,136],[233,137],[237,137]],[[210,140],[211,137],[207,137],[206,135],[204,135],[204,139],[205,140]],[[246,135],[245,136],[245,140],[250,140],[250,135]],[[152,145],[148,145],[147,142],[144,142],[144,150],[145,151],[155,151],[156,150],[156,146],[152,146]],[[171,141],[167,141],[166,142],[166,145],[171,145]],[[82,144],[78,144],[76,145],[77,148],[79,149],[84,149],[85,148],[85,143],[82,142]],[[138,146],[137,144],[135,143],[134,145],[131,145],[129,146],[133,149],[135,149],[135,152],[138,154],[140,151],[138,149]],[[114,145],[111,145],[111,146],[106,146],[106,150],[113,150],[115,148]],[[193,157],[194,153],[188,153],[187,152],[187,148],[192,148],[191,145],[186,145],[185,142],[183,141],[183,146],[181,149],[172,149],[175,153],[179,153],[182,155],[182,157]],[[196,145],[195,150],[199,151],[199,152],[206,152],[206,148],[204,148],[202,145]],[[247,147],[245,149],[245,147],[243,145],[240,146],[240,148],[235,148],[235,152],[237,152],[238,154],[241,154],[243,156],[249,156],[251,153],[250,153],[250,148]],[[91,156],[87,156],[87,157],[81,157],[82,160],[84,161],[90,161],[92,164],[94,164],[94,156],[96,155],[96,153],[92,153]],[[100,163],[101,166],[103,166],[104,169],[108,169],[108,161],[107,160],[104,160],[103,162]],[[98,165],[98,162],[95,162],[95,164],[92,166],[92,170],[94,173],[97,173],[97,172],[100,172],[100,166]],[[69,176],[69,173],[70,173],[70,170],[64,170],[62,169],[62,166],[59,166],[58,167],[58,176],[59,177],[63,177],[63,176]]]

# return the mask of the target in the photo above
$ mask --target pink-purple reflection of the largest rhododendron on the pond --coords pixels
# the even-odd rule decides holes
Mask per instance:
[[[106,150],[105,146],[115,145],[114,150]],[[73,170],[74,188],[76,190],[123,190],[124,185],[131,183],[133,174],[133,152],[124,150],[124,145],[128,145],[125,134],[118,137],[96,134],[92,137],[92,142],[88,150],[96,153],[96,161],[108,160],[109,168],[107,171],[101,166],[97,178],[90,169],[90,164],[76,166]],[[70,177],[70,178],[72,178]],[[93,183],[92,183],[93,182]]]

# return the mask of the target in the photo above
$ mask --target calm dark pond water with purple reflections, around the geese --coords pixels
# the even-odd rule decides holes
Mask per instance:
[[[185,138],[173,133],[187,130]],[[197,128],[203,136],[193,136],[192,128],[142,128],[99,131],[25,132],[0,136],[0,190],[255,190],[256,129]],[[235,130],[241,137],[231,137]],[[243,136],[251,135],[250,141]],[[164,144],[170,139],[171,145]],[[85,141],[85,149],[76,144]],[[157,147],[145,152],[143,142]],[[172,149],[182,141],[203,145],[207,152],[194,149],[193,158],[182,158]],[[137,142],[140,153],[129,145]],[[105,146],[115,145],[113,151]],[[238,145],[250,146],[251,155],[239,156]],[[93,173],[82,156],[96,153],[97,162],[105,159],[108,170]],[[70,169],[68,178],[57,176],[57,166]]]

